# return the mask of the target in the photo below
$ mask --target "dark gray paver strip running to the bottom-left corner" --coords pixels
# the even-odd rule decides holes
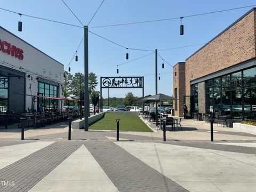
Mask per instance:
[[[14,181],[14,186],[0,185],[0,191],[28,191],[82,145],[77,141],[55,142],[0,170],[0,181]]]

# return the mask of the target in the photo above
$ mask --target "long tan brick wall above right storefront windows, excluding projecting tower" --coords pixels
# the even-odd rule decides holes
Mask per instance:
[[[186,60],[186,94],[190,93],[191,80],[252,58],[255,58],[255,9]]]

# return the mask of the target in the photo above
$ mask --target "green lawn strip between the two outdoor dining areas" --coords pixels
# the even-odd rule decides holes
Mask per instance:
[[[153,132],[149,127],[141,121],[138,116],[134,115],[120,115],[114,113],[105,113],[105,117],[100,121],[91,124],[91,130],[116,130],[116,118],[120,118],[119,130],[120,131],[143,131]]]

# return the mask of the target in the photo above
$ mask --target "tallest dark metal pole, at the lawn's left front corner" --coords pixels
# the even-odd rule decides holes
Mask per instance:
[[[88,131],[89,90],[88,90],[88,26],[84,26],[84,131]]]

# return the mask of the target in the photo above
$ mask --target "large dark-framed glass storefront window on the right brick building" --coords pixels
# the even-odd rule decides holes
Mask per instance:
[[[207,113],[221,111],[221,115],[255,120],[256,68],[207,80],[205,96]]]

